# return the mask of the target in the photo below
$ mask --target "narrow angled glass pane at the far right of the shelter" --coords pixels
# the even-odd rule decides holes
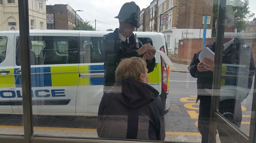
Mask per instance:
[[[223,117],[247,135],[250,129],[255,73],[253,56],[255,31],[250,31],[251,25],[247,24],[249,20],[247,21],[246,14],[250,11],[242,13],[239,10],[249,6],[250,3],[242,5],[227,3],[219,105],[219,112]],[[253,17],[250,17],[250,21],[253,21]],[[233,44],[229,46],[230,40]],[[230,47],[236,47],[236,50],[230,50]],[[227,52],[228,50],[230,51]],[[230,56],[230,53],[236,54],[236,58]]]

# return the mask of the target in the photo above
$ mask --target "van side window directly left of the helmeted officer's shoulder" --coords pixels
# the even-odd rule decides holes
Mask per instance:
[[[102,37],[83,37],[80,63],[103,63],[100,52]]]

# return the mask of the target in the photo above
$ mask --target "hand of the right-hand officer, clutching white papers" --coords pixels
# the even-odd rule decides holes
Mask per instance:
[[[203,61],[201,61],[198,65],[197,65],[197,70],[199,72],[203,72],[203,71],[214,71],[214,61],[210,60],[209,58],[205,58]]]

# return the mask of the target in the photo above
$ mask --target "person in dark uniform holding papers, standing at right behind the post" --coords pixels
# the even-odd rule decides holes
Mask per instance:
[[[234,33],[236,25],[234,24],[234,16],[225,16],[225,33]],[[224,79],[225,85],[233,86],[236,88],[251,89],[252,78],[255,73],[254,60],[250,46],[244,42],[241,38],[234,38],[233,36],[224,37],[223,40],[223,59],[222,66],[226,66],[226,74],[230,74],[235,77],[232,79]],[[208,47],[212,52],[215,52],[215,42],[211,42]],[[202,50],[201,50],[202,51]],[[198,97],[197,102],[199,104],[199,118],[198,118],[198,130],[202,135],[202,142],[208,142],[209,120],[210,120],[210,106],[211,106],[211,92],[212,89],[212,77],[214,71],[214,60],[210,59],[208,55],[203,54],[205,58],[199,60],[201,51],[195,53],[191,64],[188,67],[188,71],[191,76],[197,78]],[[200,55],[202,56],[202,55]],[[206,58],[208,57],[208,58]],[[241,59],[240,59],[241,57]],[[230,66],[231,65],[231,66]],[[241,66],[243,65],[243,66]],[[242,68],[240,68],[242,67]],[[242,71],[242,72],[241,72]],[[246,80],[240,80],[238,75],[243,73]],[[238,85],[239,84],[239,85]],[[239,87],[240,86],[240,87]],[[244,87],[243,87],[244,86]],[[236,92],[237,94],[238,92]],[[228,119],[231,123],[238,128],[241,126],[242,121],[242,109],[241,102],[246,96],[241,98],[226,98],[219,102],[219,112]],[[235,109],[236,108],[236,109]],[[234,142],[228,135],[217,127],[221,142]]]

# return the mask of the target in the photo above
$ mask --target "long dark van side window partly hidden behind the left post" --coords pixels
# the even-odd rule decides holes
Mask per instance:
[[[61,36],[31,36],[31,65],[78,64],[79,38]],[[20,65],[19,40],[16,44],[16,64]]]

